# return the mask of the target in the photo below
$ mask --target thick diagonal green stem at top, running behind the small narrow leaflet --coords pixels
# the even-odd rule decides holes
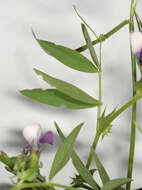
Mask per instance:
[[[111,31],[109,31],[106,34],[101,35],[98,39],[92,41],[92,44],[98,44],[100,42],[105,41],[107,38],[109,38],[110,36],[112,36],[114,33],[116,33],[117,31],[119,31],[121,28],[123,28],[123,26],[129,24],[129,20],[124,20],[123,22],[121,22],[119,25],[117,25],[116,27],[114,27]],[[87,45],[81,46],[80,48],[77,48],[76,51],[78,52],[82,52],[84,50],[86,50],[88,48]]]

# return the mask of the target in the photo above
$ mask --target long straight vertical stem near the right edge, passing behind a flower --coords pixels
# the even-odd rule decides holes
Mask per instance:
[[[130,9],[130,24],[129,24],[129,32],[134,31],[134,9],[135,9],[135,1],[131,0],[131,9]],[[133,87],[133,96],[136,94],[136,60],[131,50],[131,64],[132,64],[132,87]],[[131,121],[131,136],[130,136],[130,148],[129,148],[129,161],[128,161],[128,171],[127,177],[132,178],[133,171],[133,162],[134,162],[134,150],[135,150],[135,124],[136,120],[136,103],[132,106],[132,121]],[[127,183],[126,190],[130,190],[131,182]]]

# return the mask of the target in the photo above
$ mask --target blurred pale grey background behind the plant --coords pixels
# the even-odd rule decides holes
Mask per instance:
[[[96,108],[86,110],[68,110],[55,108],[34,102],[23,97],[19,90],[25,88],[47,88],[48,84],[39,79],[33,71],[38,68],[57,78],[77,85],[97,98],[98,76],[80,73],[62,65],[45,54],[32,36],[31,29],[41,39],[56,42],[71,48],[84,44],[80,28],[80,19],[72,5],[92,26],[97,34],[106,33],[129,16],[130,0],[1,0],[0,6],[0,149],[10,156],[19,154],[26,142],[22,137],[22,128],[38,122],[43,130],[55,132],[54,146],[47,146],[42,154],[45,163],[42,173],[48,174],[54,154],[60,140],[54,128],[58,122],[65,134],[77,124],[85,121],[75,148],[86,161],[89,146],[95,134]],[[141,14],[142,1],[139,0],[138,12]],[[94,39],[92,35],[92,39]],[[97,46],[98,48],[98,46]],[[125,26],[120,32],[103,44],[103,102],[110,112],[131,98],[131,64],[129,53],[129,33]],[[88,51],[83,53],[88,55]],[[89,57],[89,55],[88,55]],[[138,118],[141,121],[141,101],[138,102]],[[97,153],[112,178],[125,177],[129,149],[131,109],[125,111],[113,124],[113,132],[99,142]],[[137,132],[136,156],[134,163],[132,189],[142,187],[142,135]],[[68,176],[73,176],[72,163],[53,180],[69,184]],[[8,189],[10,175],[0,164],[0,189]],[[98,178],[98,176],[96,176]]]

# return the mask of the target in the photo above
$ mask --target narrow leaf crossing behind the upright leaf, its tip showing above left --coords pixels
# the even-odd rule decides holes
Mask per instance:
[[[62,131],[60,130],[60,128],[56,122],[55,122],[55,127],[56,127],[58,134],[60,135],[60,138],[62,139],[62,141],[64,141],[66,138],[65,138],[64,134],[62,133]],[[96,181],[93,179],[91,173],[84,166],[83,162],[80,160],[79,156],[76,154],[76,152],[74,150],[72,152],[71,157],[72,157],[72,162],[73,162],[75,168],[77,169],[78,173],[81,175],[81,177],[89,185],[91,185],[94,189],[99,189],[99,186],[96,183]]]

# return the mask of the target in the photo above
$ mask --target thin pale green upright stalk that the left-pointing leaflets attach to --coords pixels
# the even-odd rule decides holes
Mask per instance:
[[[99,73],[98,73],[98,77],[99,77],[99,101],[102,101],[102,71],[101,71],[101,63],[102,63],[102,56],[101,56],[101,50],[102,50],[102,43],[100,43],[100,51],[99,51]],[[89,168],[92,158],[93,158],[93,151],[96,149],[96,146],[98,144],[99,138],[100,138],[100,133],[99,133],[99,118],[101,116],[101,105],[98,106],[98,112],[97,112],[97,127],[96,127],[96,135],[93,141],[93,144],[91,146],[91,150],[89,153],[89,157],[87,160],[87,164],[86,167]]]

